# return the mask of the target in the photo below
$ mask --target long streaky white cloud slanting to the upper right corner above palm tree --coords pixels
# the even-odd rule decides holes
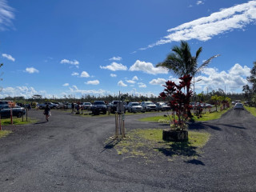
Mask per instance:
[[[237,6],[219,10],[208,17],[198,18],[192,22],[167,30],[170,34],[140,50],[159,46],[170,42],[188,41],[198,39],[207,41],[218,34],[235,29],[243,29],[256,21],[256,1],[246,2]]]

